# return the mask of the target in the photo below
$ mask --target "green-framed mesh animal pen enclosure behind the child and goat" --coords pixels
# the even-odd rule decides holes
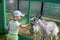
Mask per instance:
[[[41,18],[60,22],[60,0],[1,0],[0,3],[0,33],[6,33],[7,22],[9,22],[14,10],[20,10],[25,17],[21,24],[30,22],[30,19],[41,15]],[[19,34],[19,40],[33,40],[26,35]]]

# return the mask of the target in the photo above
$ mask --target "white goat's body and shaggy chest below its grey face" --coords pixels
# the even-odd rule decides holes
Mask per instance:
[[[52,37],[54,37],[55,40],[58,40],[59,29],[58,29],[58,26],[55,22],[52,22],[52,21],[48,22],[48,21],[41,20],[41,19],[37,20],[36,18],[34,21],[35,21],[35,25],[33,25],[34,31],[38,32],[38,30],[41,29],[42,34],[43,34],[42,40],[44,40],[47,36],[50,36],[51,40],[52,40]]]

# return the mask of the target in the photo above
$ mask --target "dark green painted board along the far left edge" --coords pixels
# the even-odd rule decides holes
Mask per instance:
[[[0,32],[2,32],[4,29],[4,14],[3,14],[3,2],[0,0]]]

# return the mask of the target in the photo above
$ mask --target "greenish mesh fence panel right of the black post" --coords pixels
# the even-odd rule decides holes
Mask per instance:
[[[60,4],[44,3],[43,16],[60,20]]]

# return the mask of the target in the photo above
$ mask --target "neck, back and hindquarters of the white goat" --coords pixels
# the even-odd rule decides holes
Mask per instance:
[[[58,39],[59,29],[55,22],[50,21],[50,22],[43,23],[43,21],[39,19],[38,24],[41,25],[40,28],[43,32],[43,36],[45,33],[46,36],[51,36],[51,40],[52,40],[52,36],[55,37],[55,40]]]

